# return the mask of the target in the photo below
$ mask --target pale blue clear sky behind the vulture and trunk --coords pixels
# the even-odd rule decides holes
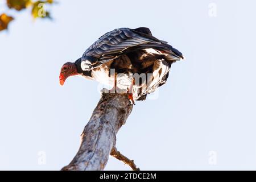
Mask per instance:
[[[255,1],[58,2],[47,7],[52,21],[7,11],[15,20],[0,32],[0,169],[59,170],[73,159],[100,94],[81,77],[61,87],[61,66],[105,32],[142,26],[186,60],[158,97],[136,102],[118,150],[142,170],[256,169]],[[111,156],[105,169],[130,170]]]

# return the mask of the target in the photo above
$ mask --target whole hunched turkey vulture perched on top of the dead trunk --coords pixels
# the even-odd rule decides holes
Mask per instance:
[[[125,90],[134,103],[163,85],[171,64],[181,59],[181,52],[152,36],[149,28],[118,28],[102,35],[75,63],[65,63],[60,85],[69,76],[81,75]]]

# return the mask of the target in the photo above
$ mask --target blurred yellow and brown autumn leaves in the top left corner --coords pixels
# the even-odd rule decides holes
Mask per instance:
[[[36,18],[51,18],[46,6],[54,3],[53,0],[32,1],[32,0],[6,0],[6,5],[9,9],[16,11],[31,9],[31,16]],[[0,15],[0,31],[6,30],[9,23],[14,20],[13,16],[2,13]]]

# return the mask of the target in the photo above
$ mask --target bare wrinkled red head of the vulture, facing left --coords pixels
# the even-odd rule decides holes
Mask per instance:
[[[64,85],[65,80],[69,76],[74,76],[74,75],[77,75],[77,68],[75,63],[68,62],[63,64],[60,70],[60,85]]]

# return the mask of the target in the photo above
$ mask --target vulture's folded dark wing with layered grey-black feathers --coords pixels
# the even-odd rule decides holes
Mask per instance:
[[[135,49],[153,48],[152,46],[165,47],[169,50],[172,48],[167,42],[152,36],[149,28],[118,28],[102,35],[92,46],[86,49],[81,60],[87,60],[87,57],[96,58],[96,62],[92,63],[90,67],[92,69],[117,58],[122,53]],[[177,57],[182,57],[179,51],[176,53],[176,49],[172,53]]]

